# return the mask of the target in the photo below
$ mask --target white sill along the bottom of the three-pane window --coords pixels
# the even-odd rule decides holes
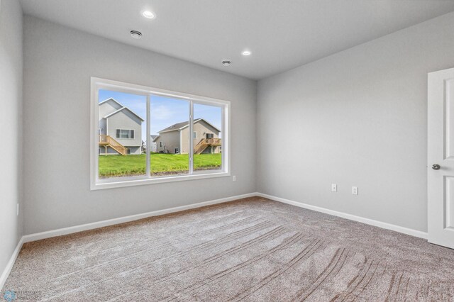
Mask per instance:
[[[189,181],[196,179],[209,179],[216,177],[230,177],[230,172],[205,172],[197,173],[194,172],[192,175],[177,175],[170,177],[123,177],[121,179],[100,179],[95,184],[92,184],[91,190],[101,190],[101,189],[114,189],[122,188],[125,186],[141,186],[144,184],[162,184],[166,182],[174,181]]]

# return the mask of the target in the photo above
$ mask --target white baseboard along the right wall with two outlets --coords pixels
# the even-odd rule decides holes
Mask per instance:
[[[379,228],[384,228],[384,229],[387,229],[387,230],[394,230],[395,232],[404,233],[406,235],[411,235],[411,236],[414,236],[414,237],[420,237],[420,238],[423,238],[423,239],[427,239],[427,233],[421,232],[420,230],[414,230],[414,229],[411,229],[411,228],[404,228],[404,227],[399,226],[399,225],[392,225],[391,223],[384,223],[384,222],[378,221],[378,220],[373,220],[373,219],[369,219],[369,218],[355,216],[355,215],[348,214],[348,213],[333,211],[333,210],[329,210],[328,208],[321,208],[319,206],[311,206],[310,204],[307,204],[307,203],[300,203],[300,202],[297,202],[297,201],[291,201],[289,199],[280,198],[280,197],[276,197],[276,196],[271,196],[271,195],[267,195],[267,194],[256,193],[256,195],[260,196],[260,197],[265,197],[265,198],[268,198],[268,199],[272,199],[274,201],[287,203],[287,204],[290,204],[292,206],[299,206],[300,208],[307,208],[307,209],[312,210],[312,211],[326,213],[326,214],[329,214],[329,215],[338,216],[338,217],[341,217],[341,218],[358,221],[360,223],[365,223],[367,225],[374,225],[374,226],[379,227]]]

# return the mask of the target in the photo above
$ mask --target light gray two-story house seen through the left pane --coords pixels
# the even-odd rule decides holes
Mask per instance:
[[[99,103],[98,118],[100,155],[142,153],[143,118],[112,98]]]

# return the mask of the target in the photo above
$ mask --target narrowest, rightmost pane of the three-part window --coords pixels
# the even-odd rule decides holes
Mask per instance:
[[[194,104],[194,171],[222,169],[222,108]]]

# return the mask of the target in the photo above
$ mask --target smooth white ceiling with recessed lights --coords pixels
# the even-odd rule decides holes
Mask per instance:
[[[21,0],[26,14],[262,79],[454,11],[453,0]],[[148,20],[140,12],[150,9]],[[140,30],[134,40],[130,30]],[[245,49],[253,52],[243,57]],[[221,60],[232,61],[224,67]]]

